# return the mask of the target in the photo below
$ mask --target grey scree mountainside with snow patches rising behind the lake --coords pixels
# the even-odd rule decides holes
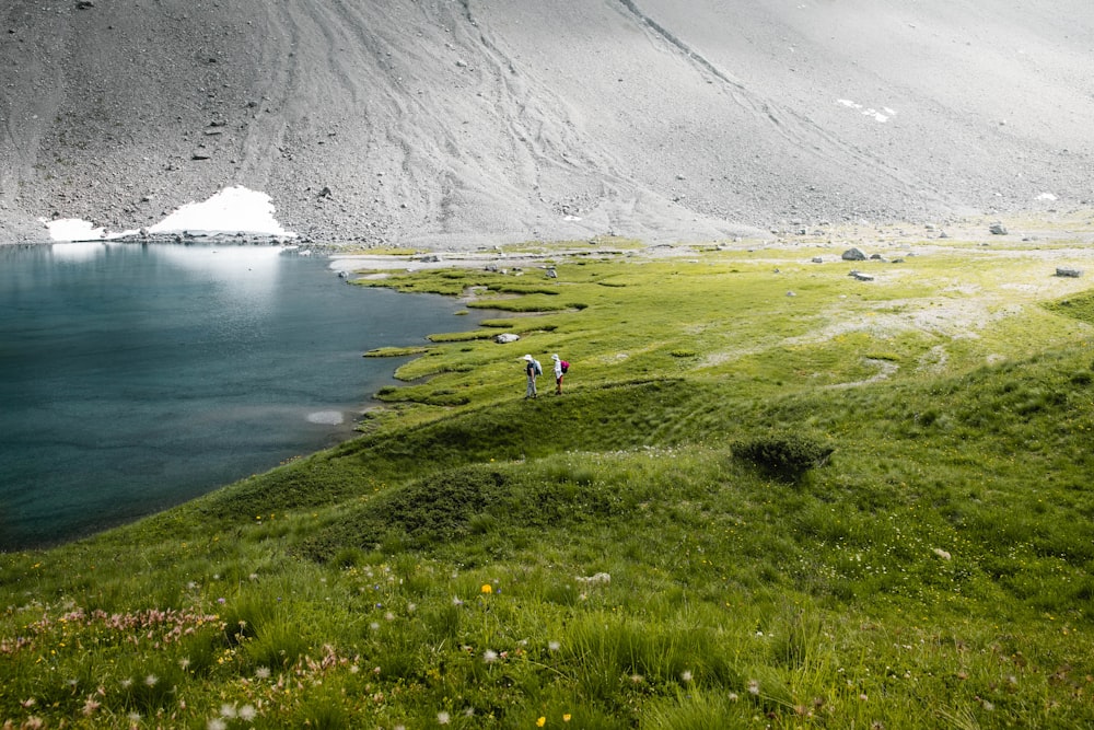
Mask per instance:
[[[7,0],[0,241],[243,185],[472,247],[1094,199],[1090,0]]]

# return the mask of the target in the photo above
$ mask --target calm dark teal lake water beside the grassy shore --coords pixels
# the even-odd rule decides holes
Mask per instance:
[[[401,362],[362,352],[473,327],[457,309],[347,286],[325,258],[276,247],[0,246],[0,549],[351,436]]]

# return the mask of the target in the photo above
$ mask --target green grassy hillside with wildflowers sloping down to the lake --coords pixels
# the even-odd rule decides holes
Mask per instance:
[[[913,247],[387,279],[523,339],[437,338],[354,441],[0,556],[0,720],[1094,723],[1092,294]],[[563,396],[520,399],[525,351]]]

